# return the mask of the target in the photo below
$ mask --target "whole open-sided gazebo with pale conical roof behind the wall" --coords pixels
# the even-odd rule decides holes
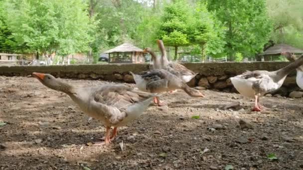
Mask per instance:
[[[108,53],[108,63],[145,63],[143,50],[130,43],[124,43],[104,53]]]

